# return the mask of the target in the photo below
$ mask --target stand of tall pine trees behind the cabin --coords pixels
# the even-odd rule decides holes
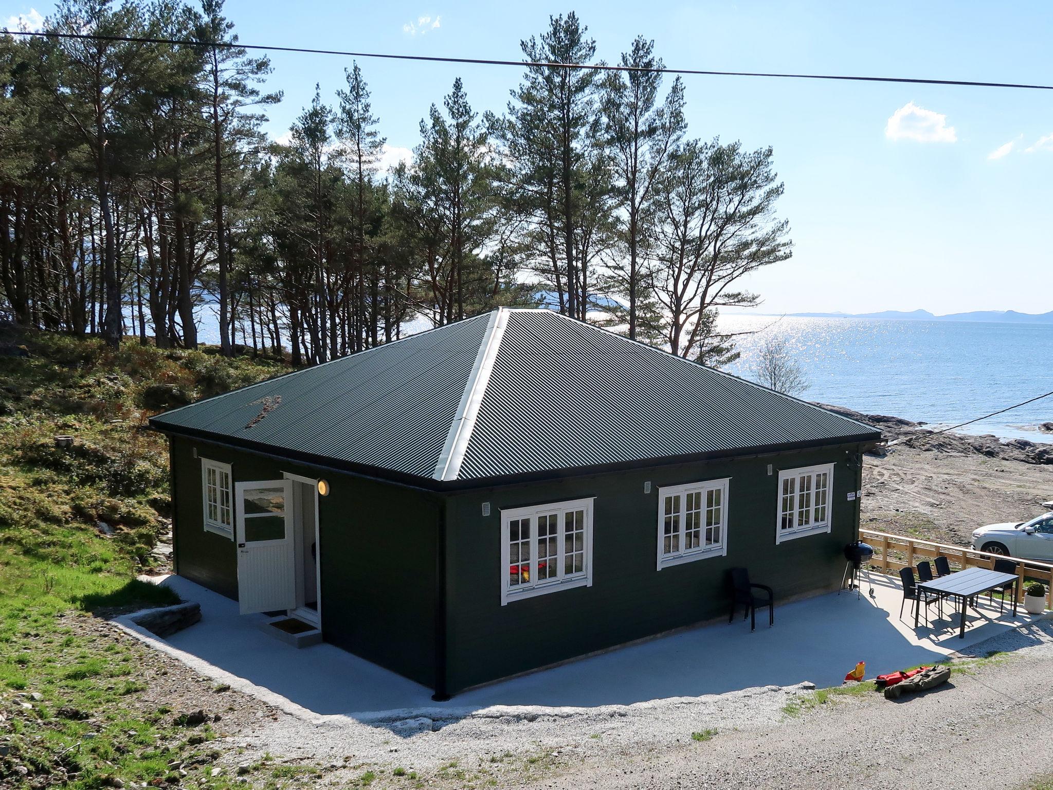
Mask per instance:
[[[534,65],[596,62],[576,15],[554,17],[502,115],[455,79],[382,172],[357,63],[267,139],[281,96],[266,57],[223,45],[222,6],[64,0],[44,25],[182,43],[0,35],[0,319],[196,348],[207,305],[224,354],[315,363],[410,320],[544,304],[734,358],[716,317],[790,257],[782,184],[771,149],[690,137],[679,78]],[[618,61],[661,63],[643,38]]]

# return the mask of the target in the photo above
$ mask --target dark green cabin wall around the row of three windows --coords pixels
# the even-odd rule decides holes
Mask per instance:
[[[836,463],[831,532],[776,545],[778,470],[830,462]],[[769,463],[774,468],[771,475]],[[733,567],[746,567],[754,581],[773,587],[777,604],[836,589],[845,570],[841,550],[855,539],[858,529],[858,501],[848,501],[848,493],[861,488],[857,463],[845,449],[828,449],[451,495],[446,505],[448,688],[464,689],[726,617],[728,570]],[[656,570],[658,489],[723,477],[731,478],[728,555]],[[651,482],[651,493],[643,492],[644,481]],[[583,497],[596,497],[592,587],[512,600],[502,607],[501,509]],[[483,502],[491,503],[490,516],[481,515]]]

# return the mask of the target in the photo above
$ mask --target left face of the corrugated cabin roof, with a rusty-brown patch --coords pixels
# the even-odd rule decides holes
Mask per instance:
[[[165,412],[151,423],[431,477],[488,315]],[[265,398],[281,402],[252,428]],[[273,402],[273,400],[272,400]]]

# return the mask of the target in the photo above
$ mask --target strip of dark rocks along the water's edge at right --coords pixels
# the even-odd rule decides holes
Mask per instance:
[[[889,450],[910,441],[910,447],[930,453],[946,453],[949,455],[984,455],[988,458],[1016,460],[1025,463],[1053,465],[1053,445],[1028,441],[1027,439],[999,439],[993,434],[971,436],[969,434],[948,431],[938,433],[926,428],[925,422],[913,422],[902,417],[890,417],[885,414],[862,414],[840,406],[816,403],[836,414],[859,420],[880,429],[888,445],[874,451],[875,455],[883,456]],[[1044,423],[1047,424],[1047,423]],[[927,438],[931,437],[931,438]]]

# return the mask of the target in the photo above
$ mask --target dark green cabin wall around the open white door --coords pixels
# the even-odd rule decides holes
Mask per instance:
[[[331,493],[318,499],[324,639],[434,685],[440,497],[172,437],[176,572],[232,598],[238,595],[237,549],[203,528],[201,457],[230,463],[235,482],[280,479],[283,472],[326,479]]]

